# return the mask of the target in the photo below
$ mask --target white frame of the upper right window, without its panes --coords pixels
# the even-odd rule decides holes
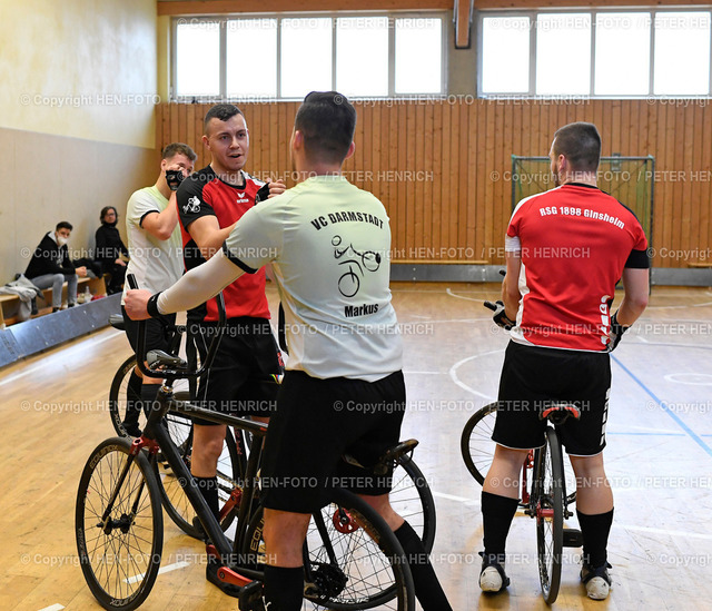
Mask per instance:
[[[651,18],[651,28],[650,28],[650,76],[647,80],[647,93],[631,96],[631,95],[610,95],[610,96],[596,96],[595,91],[595,43],[596,43],[596,32],[595,32],[595,23],[596,17],[599,13],[641,13],[641,14],[650,14]],[[654,75],[655,75],[655,16],[659,13],[669,13],[669,12],[709,12],[711,13],[712,20],[712,10],[709,4],[701,4],[699,7],[675,7],[675,6],[657,6],[655,8],[641,8],[641,7],[581,7],[576,9],[543,9],[543,10],[479,10],[477,11],[476,19],[476,36],[477,36],[477,97],[479,98],[561,98],[562,95],[558,96],[543,96],[536,93],[536,18],[540,14],[581,14],[589,13],[591,14],[591,90],[590,93],[585,96],[580,95],[571,95],[572,98],[593,98],[593,99],[668,99],[668,98],[706,98],[712,96],[712,28],[710,33],[710,78],[708,82],[708,92],[702,96],[684,96],[684,95],[655,95],[654,91]],[[514,18],[514,17],[528,17],[530,18],[530,89],[528,91],[512,93],[512,92],[497,92],[497,91],[487,91],[484,92],[482,90],[482,73],[483,73],[483,20],[485,18]]]

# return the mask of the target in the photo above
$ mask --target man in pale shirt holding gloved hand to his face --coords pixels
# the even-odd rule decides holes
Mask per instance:
[[[188,176],[198,156],[182,142],[168,145],[161,155],[160,175],[152,187],[145,187],[135,191],[126,208],[126,230],[129,238],[130,260],[127,274],[134,274],[138,285],[156,292],[168,288],[182,275],[182,256],[180,229],[178,229],[178,207],[174,191],[180,179]],[[166,171],[171,177],[166,180]],[[180,173],[180,174],[178,174]],[[128,290],[125,286],[121,298],[121,313],[126,335],[137,352],[138,325],[131,321],[123,309],[123,300]],[[175,315],[167,318],[175,322]],[[146,351],[168,349],[168,337],[165,323],[150,321],[146,326]],[[122,422],[127,433],[138,436],[141,431],[138,417],[141,402],[156,398],[160,378],[152,377],[144,381],[144,376],[134,369],[127,388],[126,416]]]

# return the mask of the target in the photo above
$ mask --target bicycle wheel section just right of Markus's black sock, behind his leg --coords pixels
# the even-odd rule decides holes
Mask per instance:
[[[400,456],[393,471],[390,505],[413,526],[427,553],[433,551],[437,514],[431,486],[411,456]]]

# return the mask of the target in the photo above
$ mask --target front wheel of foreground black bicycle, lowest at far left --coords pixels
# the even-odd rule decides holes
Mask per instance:
[[[146,454],[131,457],[130,449],[126,437],[111,437],[93,450],[79,481],[75,511],[85,580],[101,607],[112,611],[131,611],[146,600],[158,575],[164,544],[154,472]],[[126,477],[109,523],[102,516],[123,470]]]

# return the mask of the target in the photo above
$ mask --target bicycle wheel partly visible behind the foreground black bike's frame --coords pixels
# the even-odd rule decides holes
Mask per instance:
[[[171,413],[168,413],[167,418],[170,418]],[[172,435],[171,435],[172,438]],[[188,435],[186,441],[178,445],[178,451],[181,459],[186,463],[188,471],[190,471],[190,457],[192,453],[192,432]],[[239,485],[244,480],[247,461],[244,454],[238,454],[235,445],[235,437],[228,426],[225,434],[225,443],[222,444],[222,453],[218,460],[218,503],[219,506],[228,500],[233,489]],[[160,500],[166,510],[166,513],[182,532],[194,539],[201,539],[204,533],[201,530],[196,529],[192,524],[192,519],[197,513],[192,507],[192,504],[188,500],[180,481],[175,477],[172,470],[168,464],[156,462],[154,465],[155,473],[158,480],[158,489],[160,493]],[[226,531],[235,518],[235,512],[227,515],[226,520],[222,520],[220,526]]]

